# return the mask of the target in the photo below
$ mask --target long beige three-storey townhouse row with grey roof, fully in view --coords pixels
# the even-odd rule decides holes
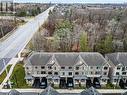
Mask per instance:
[[[26,82],[34,87],[105,86],[110,64],[97,52],[34,52],[25,60]]]

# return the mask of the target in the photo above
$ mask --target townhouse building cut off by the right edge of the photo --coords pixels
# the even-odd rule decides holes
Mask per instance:
[[[106,54],[105,58],[111,65],[111,82],[115,85],[120,85],[119,82],[123,81],[127,85],[127,53],[118,52]]]

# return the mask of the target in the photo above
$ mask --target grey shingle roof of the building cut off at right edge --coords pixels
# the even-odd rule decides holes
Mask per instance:
[[[111,54],[106,54],[108,59],[112,61],[114,65],[122,64],[127,66],[127,53],[111,53]]]

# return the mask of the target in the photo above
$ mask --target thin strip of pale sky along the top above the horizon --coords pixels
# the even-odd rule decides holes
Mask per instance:
[[[2,1],[2,0],[0,0]],[[11,0],[10,0],[11,1]],[[40,3],[127,3],[127,0],[14,0],[16,2],[40,2]]]

